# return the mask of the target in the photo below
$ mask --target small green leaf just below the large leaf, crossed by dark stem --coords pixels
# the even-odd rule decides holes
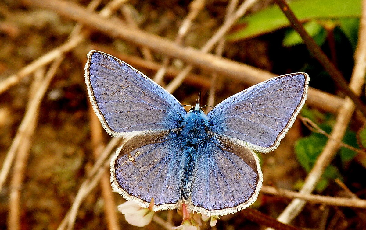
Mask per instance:
[[[317,36],[317,44],[322,45],[326,38],[326,31],[323,29],[321,24],[319,24],[316,20],[311,20],[310,22],[305,23],[305,30],[309,33],[311,37],[315,37],[315,35],[322,34],[321,37]],[[324,36],[325,35],[325,36]],[[304,41],[295,30],[291,29],[285,35],[282,45],[283,46],[294,46],[298,44],[302,44]]]

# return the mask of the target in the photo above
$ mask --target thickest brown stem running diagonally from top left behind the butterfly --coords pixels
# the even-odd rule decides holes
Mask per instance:
[[[151,50],[165,54],[169,57],[179,58],[184,62],[194,64],[202,69],[217,72],[223,76],[242,79],[243,82],[254,85],[259,82],[275,77],[274,74],[254,68],[226,58],[215,57],[205,54],[191,47],[182,47],[168,39],[158,37],[140,30],[133,30],[123,26],[119,20],[106,20],[96,13],[86,12],[85,8],[63,0],[22,0],[28,5],[55,11],[66,18],[85,23],[112,37],[122,38],[137,45],[149,47]],[[0,87],[1,88],[1,87]],[[1,91],[0,91],[1,92]],[[307,104],[321,108],[324,111],[336,112],[342,104],[339,97],[310,88]]]

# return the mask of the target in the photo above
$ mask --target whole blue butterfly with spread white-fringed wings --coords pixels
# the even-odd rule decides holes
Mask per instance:
[[[305,103],[309,77],[292,73],[239,92],[207,115],[127,63],[100,51],[87,55],[85,81],[104,129],[123,137],[111,162],[113,188],[153,210],[207,216],[252,204],[262,186],[255,152],[277,148]]]

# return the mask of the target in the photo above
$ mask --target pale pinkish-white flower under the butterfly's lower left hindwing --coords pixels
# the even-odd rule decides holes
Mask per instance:
[[[126,221],[130,225],[143,227],[148,225],[154,216],[154,212],[149,208],[141,208],[137,203],[128,200],[120,204],[118,210],[124,214]]]

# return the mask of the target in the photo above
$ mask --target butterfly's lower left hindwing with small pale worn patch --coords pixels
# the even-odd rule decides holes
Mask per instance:
[[[137,135],[117,149],[111,161],[111,181],[126,200],[154,211],[176,208],[180,198],[180,143],[174,132]]]

